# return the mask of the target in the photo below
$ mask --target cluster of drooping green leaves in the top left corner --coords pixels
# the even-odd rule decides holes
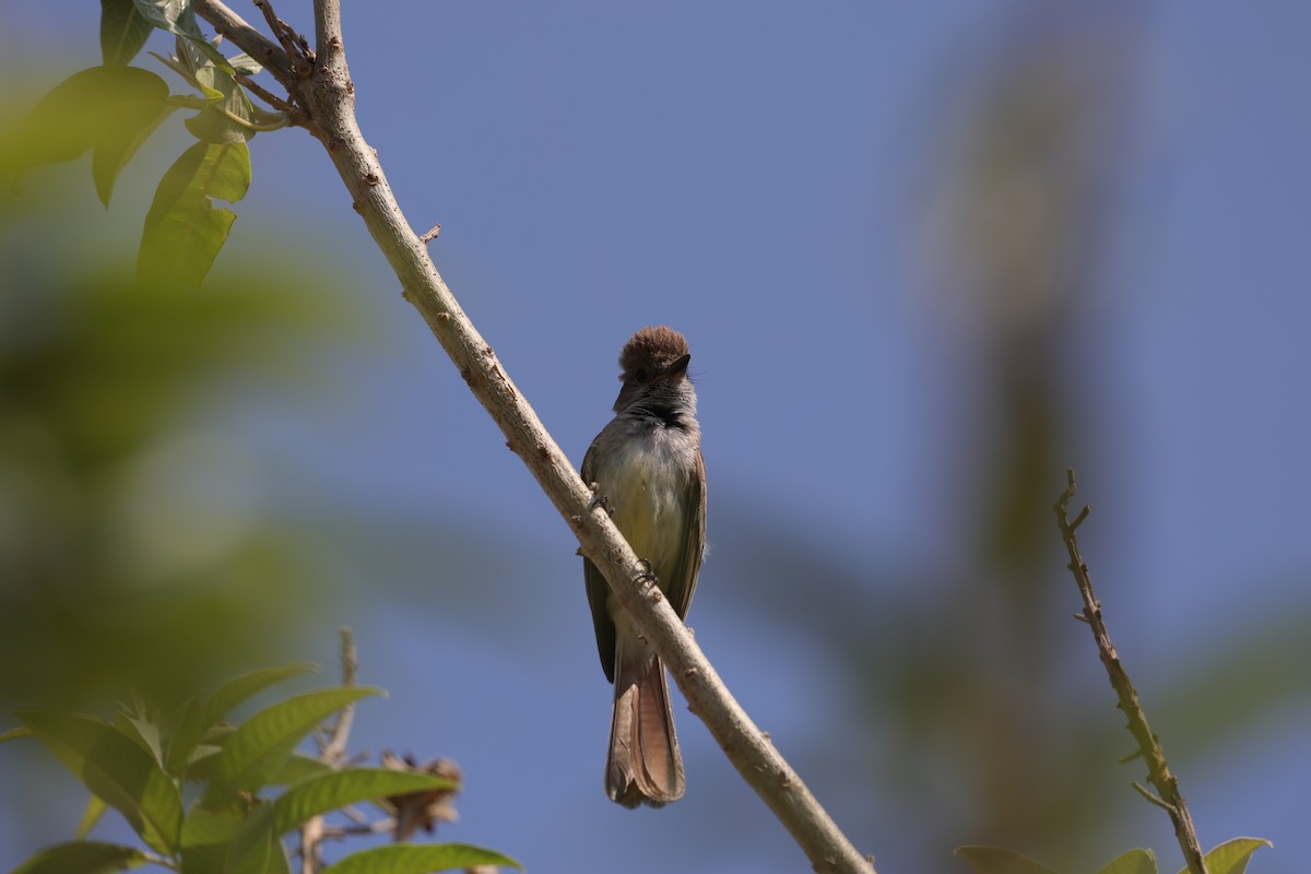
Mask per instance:
[[[172,94],[159,75],[130,67],[155,30],[174,50],[151,52],[193,94]],[[119,173],[172,113],[194,110],[186,128],[197,143],[164,172],[146,215],[138,252],[139,279],[197,286],[228,238],[236,203],[250,187],[246,143],[258,131],[290,124],[282,111],[262,110],[243,81],[260,72],[248,55],[225,56],[201,33],[189,0],[101,0],[101,66],[73,73],[33,109],[7,145],[14,177],[50,162],[92,153],[92,181],[109,207]]]

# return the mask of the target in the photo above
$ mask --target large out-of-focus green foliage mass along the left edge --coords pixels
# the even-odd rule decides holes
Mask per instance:
[[[180,692],[294,642],[312,569],[224,417],[368,325],[267,259],[143,287],[139,231],[60,182],[0,198],[0,706]]]

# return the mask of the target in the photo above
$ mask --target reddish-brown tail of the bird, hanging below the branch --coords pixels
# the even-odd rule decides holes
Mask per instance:
[[[621,634],[615,647],[606,791],[624,807],[661,807],[682,798],[683,786],[665,666],[644,641]]]

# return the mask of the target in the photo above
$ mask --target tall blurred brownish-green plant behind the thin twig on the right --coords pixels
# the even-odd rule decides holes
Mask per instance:
[[[1133,739],[1087,628],[1070,618],[1079,598],[1051,512],[1065,468],[1105,451],[1091,440],[1099,392],[1082,380],[1106,371],[1080,371],[1071,352],[1087,345],[1105,291],[1101,242],[1134,134],[1147,17],[1124,4],[1020,4],[935,104],[923,303],[935,341],[964,347],[970,368],[968,406],[947,417],[961,426],[945,461],[950,491],[932,499],[940,550],[855,563],[755,508],[717,504],[718,573],[750,579],[747,603],[779,628],[800,630],[806,615],[814,634],[798,645],[829,655],[836,687],[860,691],[850,713],[826,717],[827,747],[810,755],[831,773],[855,757],[868,768],[861,786],[897,799],[869,839],[885,861],[981,840],[1096,870],[1126,811],[1169,833],[1165,814],[1130,789],[1142,763],[1118,761]],[[1105,582],[1110,594],[1122,580]],[[1133,624],[1108,609],[1112,634],[1117,616]],[[1287,670],[1311,663],[1308,622],[1303,603],[1247,641],[1200,639],[1172,683],[1143,689],[1154,726],[1188,727],[1163,736],[1185,795],[1176,756],[1222,761],[1242,731],[1308,700],[1308,675]],[[1177,858],[1172,844],[1156,852]]]

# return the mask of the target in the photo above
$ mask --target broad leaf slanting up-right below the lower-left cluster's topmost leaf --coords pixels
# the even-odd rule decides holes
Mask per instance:
[[[298,694],[254,714],[223,746],[205,793],[205,805],[220,807],[241,790],[257,790],[282,768],[315,726],[347,704],[380,692],[370,688],[324,689]]]

